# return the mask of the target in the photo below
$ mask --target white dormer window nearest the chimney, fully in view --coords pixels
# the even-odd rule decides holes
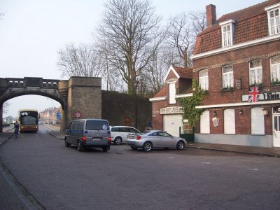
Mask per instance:
[[[223,48],[231,46],[233,44],[233,23],[234,20],[228,20],[220,23],[222,29]]]

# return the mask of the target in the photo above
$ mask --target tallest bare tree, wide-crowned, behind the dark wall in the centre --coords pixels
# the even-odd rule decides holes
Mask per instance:
[[[153,58],[163,37],[160,18],[148,0],[108,0],[94,38],[109,66],[120,72],[127,92]]]

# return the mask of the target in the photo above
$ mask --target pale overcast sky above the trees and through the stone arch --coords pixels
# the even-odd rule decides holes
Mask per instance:
[[[102,0],[1,0],[0,78],[41,77],[62,79],[57,69],[57,51],[67,43],[90,43],[92,31],[101,19]],[[226,13],[253,6],[262,0],[151,0],[158,15],[204,11],[216,5],[217,18]],[[65,78],[64,78],[65,79]],[[66,78],[68,79],[68,78]],[[52,99],[26,95],[9,101],[5,116],[17,115],[19,109],[43,111],[59,106]]]

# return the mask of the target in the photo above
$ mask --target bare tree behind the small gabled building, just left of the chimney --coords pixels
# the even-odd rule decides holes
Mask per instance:
[[[167,27],[167,44],[176,49],[183,67],[192,66],[190,55],[193,53],[195,37],[206,27],[206,16],[202,12],[181,13],[170,18]]]

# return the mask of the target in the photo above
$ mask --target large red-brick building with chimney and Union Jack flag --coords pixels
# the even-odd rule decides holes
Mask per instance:
[[[193,77],[208,90],[195,141],[280,147],[280,1],[269,0],[216,20],[197,35]]]

